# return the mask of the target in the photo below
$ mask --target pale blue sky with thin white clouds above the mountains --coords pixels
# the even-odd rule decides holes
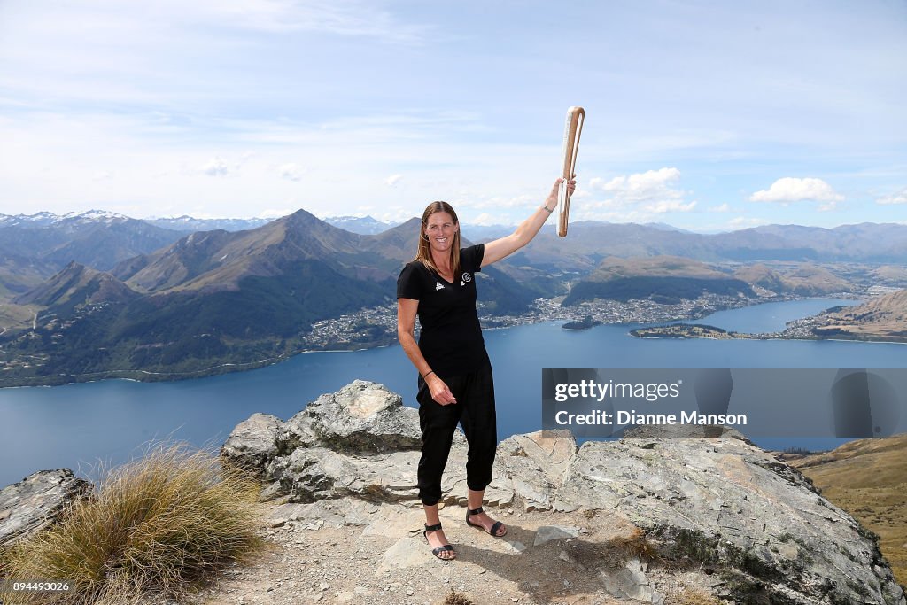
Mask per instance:
[[[0,0],[0,212],[907,221],[907,2]]]

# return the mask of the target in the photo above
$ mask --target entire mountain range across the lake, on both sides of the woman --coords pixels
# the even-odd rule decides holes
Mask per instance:
[[[356,222],[346,219],[337,222]],[[162,224],[102,211],[0,215],[0,366],[8,368],[0,384],[112,370],[196,376],[291,355],[315,322],[392,305],[395,278],[413,258],[419,232],[414,218],[355,233],[305,210],[254,227],[229,223],[249,229],[187,233]],[[471,229],[463,225],[464,234]],[[485,268],[480,293],[483,313],[501,315],[519,314],[540,296],[566,295],[564,304],[575,305],[594,298],[677,302],[704,293],[813,296],[869,281],[903,287],[905,242],[902,225],[702,235],[580,222],[566,239],[545,229]],[[741,260],[750,258],[762,262]],[[358,346],[393,337],[366,328]],[[29,358],[41,361],[23,361]]]

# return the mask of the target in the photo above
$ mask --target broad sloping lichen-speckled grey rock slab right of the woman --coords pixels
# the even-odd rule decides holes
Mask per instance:
[[[588,442],[571,461],[555,508],[627,518],[678,561],[732,570],[736,593],[761,586],[811,603],[903,603],[878,545],[802,474],[745,440],[627,438]],[[796,548],[792,548],[795,545]]]

